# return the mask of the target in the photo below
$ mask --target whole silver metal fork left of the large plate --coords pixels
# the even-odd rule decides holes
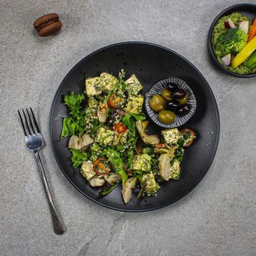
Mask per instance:
[[[24,110],[22,109],[22,112],[23,112],[23,116],[24,116],[23,117],[24,122],[22,119],[22,115],[20,115],[20,111],[18,111],[18,115],[20,116],[20,122],[22,124],[22,128],[23,128],[24,135],[25,135],[26,148],[35,154],[35,159],[37,160],[38,170],[39,170],[39,173],[41,176],[41,180],[43,182],[45,194],[48,198],[50,210],[52,213],[52,222],[54,225],[54,232],[56,234],[63,234],[65,232],[65,227],[62,223],[62,220],[60,219],[60,215],[58,214],[58,211],[56,210],[56,206],[54,205],[54,201],[52,199],[48,181],[45,177],[45,172],[43,170],[43,164],[42,164],[41,158],[39,156],[39,150],[41,149],[41,147],[43,147],[43,137],[39,130],[37,120],[35,120],[35,115],[33,113],[33,110],[30,108],[31,113],[29,113],[29,110],[26,109],[26,113],[25,113]],[[28,118],[29,122],[28,122],[28,119],[26,118],[26,115],[29,117]],[[32,116],[32,118],[31,118],[31,116]]]

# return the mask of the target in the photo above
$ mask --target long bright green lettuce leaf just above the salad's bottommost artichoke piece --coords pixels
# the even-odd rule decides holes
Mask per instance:
[[[124,162],[122,158],[120,158],[120,153],[112,149],[111,147],[107,147],[104,150],[105,156],[107,156],[109,162],[111,162],[113,169],[115,172],[117,172],[122,177],[122,183],[124,184],[124,181],[128,179],[127,173],[124,170]]]

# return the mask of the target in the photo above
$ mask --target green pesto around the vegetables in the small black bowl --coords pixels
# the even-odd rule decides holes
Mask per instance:
[[[227,30],[225,28],[224,23],[228,18],[231,18],[232,22],[234,22],[234,24],[236,26],[238,26],[239,22],[241,22],[243,20],[249,20],[249,31],[251,29],[251,20],[250,20],[250,18],[247,17],[247,16],[243,16],[242,14],[239,14],[238,12],[233,12],[230,15],[223,16],[218,20],[217,24],[213,28],[212,44],[213,44],[213,51],[215,52],[215,56],[217,57],[217,60],[220,63],[221,63],[221,58],[223,57],[223,54],[222,54],[221,50],[219,48],[217,48],[217,39],[218,39],[219,35],[221,35],[222,33],[224,33]],[[232,56],[232,59],[233,58],[234,58],[234,56]],[[249,67],[246,67],[244,65],[244,63],[242,63],[241,65],[239,65],[236,68],[232,67],[231,65],[227,66],[225,68],[234,72],[234,73],[240,74],[240,75],[256,73],[256,67],[254,69],[249,69]]]

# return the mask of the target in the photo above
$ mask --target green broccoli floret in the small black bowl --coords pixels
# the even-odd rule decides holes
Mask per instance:
[[[247,43],[248,35],[242,29],[227,29],[224,33],[219,35],[217,39],[217,47],[223,55],[238,54]]]

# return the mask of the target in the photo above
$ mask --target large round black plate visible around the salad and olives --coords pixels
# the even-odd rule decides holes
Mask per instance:
[[[124,204],[121,187],[99,198],[98,189],[90,187],[79,169],[71,167],[71,153],[67,148],[68,138],[60,140],[62,117],[68,116],[63,96],[71,91],[84,92],[85,77],[94,77],[101,72],[117,75],[125,69],[126,77],[133,73],[143,84],[143,95],[164,77],[178,77],[187,81],[193,90],[197,108],[195,115],[185,124],[197,134],[194,145],[186,149],[177,181],[162,184],[157,197],[138,200],[136,196]],[[160,133],[160,128],[151,124],[149,132]],[[63,79],[52,103],[50,113],[50,137],[54,156],[67,179],[81,194],[94,202],[120,211],[151,211],[179,200],[204,177],[213,162],[219,141],[219,113],[215,97],[207,81],[188,60],[160,45],[141,42],[117,43],[97,50],[81,60]]]

